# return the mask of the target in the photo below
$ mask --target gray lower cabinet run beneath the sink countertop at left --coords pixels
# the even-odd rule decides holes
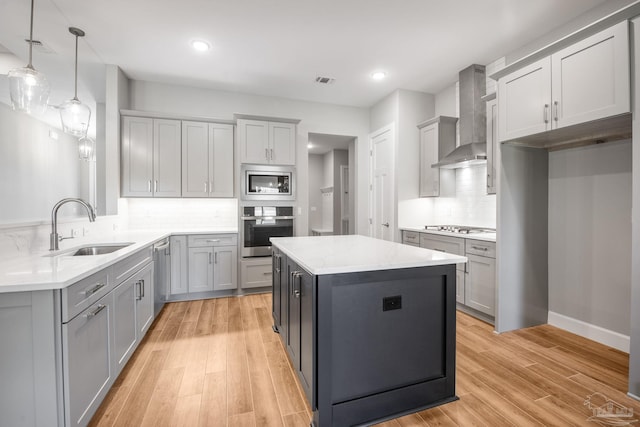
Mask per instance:
[[[0,298],[0,425],[86,426],[153,322],[151,248]]]

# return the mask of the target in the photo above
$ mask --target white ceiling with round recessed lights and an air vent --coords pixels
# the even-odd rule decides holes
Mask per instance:
[[[102,64],[116,64],[132,79],[369,107],[397,88],[437,93],[469,64],[492,62],[604,2],[36,0],[34,38],[53,53],[36,52],[33,63],[49,77],[53,103],[70,98],[67,28],[76,26],[87,33],[81,99],[104,101]],[[0,44],[24,62],[29,7],[0,0]],[[194,38],[213,48],[193,52]],[[377,69],[385,81],[370,78]],[[318,85],[318,75],[336,81]]]

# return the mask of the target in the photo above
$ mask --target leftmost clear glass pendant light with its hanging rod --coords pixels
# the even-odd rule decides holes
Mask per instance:
[[[49,82],[44,74],[31,64],[33,56],[33,3],[31,0],[31,25],[29,30],[29,63],[8,73],[11,106],[15,111],[44,114],[49,102]]]

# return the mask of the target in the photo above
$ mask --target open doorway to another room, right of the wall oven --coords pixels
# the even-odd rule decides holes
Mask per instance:
[[[355,234],[355,142],[309,133],[309,235]]]

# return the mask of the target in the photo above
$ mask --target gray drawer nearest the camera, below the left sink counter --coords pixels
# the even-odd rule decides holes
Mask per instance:
[[[62,290],[62,322],[66,323],[78,313],[109,292],[107,269],[74,283]]]

